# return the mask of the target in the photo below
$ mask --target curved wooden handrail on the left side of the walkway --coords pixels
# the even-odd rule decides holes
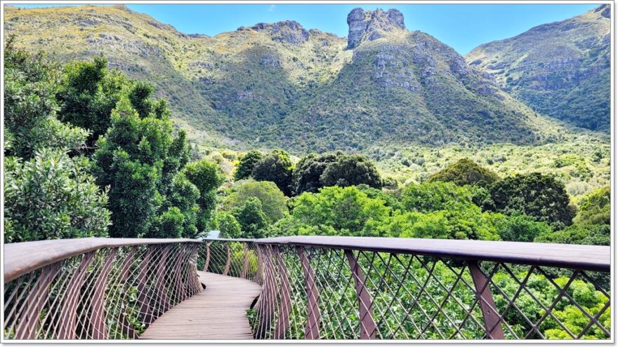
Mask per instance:
[[[67,238],[7,243],[3,252],[4,282],[14,280],[37,268],[101,248],[201,242],[190,238]]]

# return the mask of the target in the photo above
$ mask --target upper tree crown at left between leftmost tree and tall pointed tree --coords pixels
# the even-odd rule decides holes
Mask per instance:
[[[107,69],[103,55],[91,61],[70,62],[58,90],[62,104],[60,119],[90,130],[88,142],[95,142],[110,128],[112,109],[125,95],[129,84],[119,70]]]

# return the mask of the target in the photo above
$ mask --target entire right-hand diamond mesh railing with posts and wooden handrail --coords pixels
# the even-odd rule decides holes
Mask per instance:
[[[611,336],[610,247],[329,236],[206,243],[208,271],[236,277],[249,250],[249,279],[262,285],[248,312],[256,339]]]

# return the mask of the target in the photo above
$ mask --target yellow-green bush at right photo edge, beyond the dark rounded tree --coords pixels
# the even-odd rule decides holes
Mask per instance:
[[[575,224],[610,224],[610,187],[605,186],[586,194],[578,203]]]

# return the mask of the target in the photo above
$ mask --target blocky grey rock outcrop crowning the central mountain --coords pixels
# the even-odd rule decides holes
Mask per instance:
[[[375,11],[354,8],[348,14],[348,48],[355,48],[363,39],[379,39],[383,36],[382,32],[395,28],[405,29],[403,14],[395,8],[386,12],[381,8]]]

